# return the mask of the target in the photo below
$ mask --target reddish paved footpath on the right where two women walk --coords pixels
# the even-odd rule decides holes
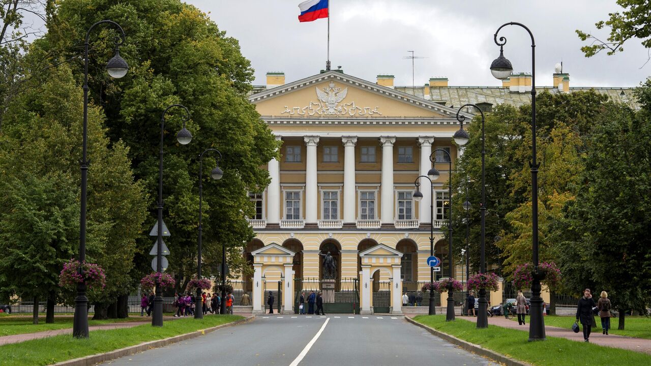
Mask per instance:
[[[413,317],[409,315],[409,317]],[[477,317],[457,317],[471,322],[477,322]],[[488,326],[501,326],[503,328],[511,328],[517,330],[529,331],[529,317],[527,317],[526,325],[519,325],[518,322],[507,320],[505,317],[488,317]],[[583,331],[574,333],[570,329],[574,323],[574,318],[568,317],[568,328],[558,328],[553,326],[545,326],[545,335],[547,337],[559,337],[570,339],[570,341],[583,342]],[[581,328],[583,329],[583,328]],[[590,333],[590,343],[595,345],[622,348],[624,350],[631,350],[651,354],[651,339],[623,337],[622,335],[603,335],[601,328],[598,331]]]

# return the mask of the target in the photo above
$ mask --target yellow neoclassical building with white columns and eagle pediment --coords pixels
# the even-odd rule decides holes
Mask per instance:
[[[568,74],[554,74],[552,80],[552,87],[541,89],[588,89],[570,88]],[[328,252],[335,264],[329,309],[401,313],[402,295],[408,292],[410,302],[418,302],[419,290],[430,281],[430,223],[436,256],[443,260],[436,276],[447,277],[447,241],[440,228],[449,217],[449,159],[454,164],[463,152],[452,142],[459,129],[457,108],[474,103],[490,111],[499,103],[528,103],[531,76],[514,74],[502,87],[449,87],[444,77],[423,87],[395,87],[393,81],[390,75],[372,82],[332,70],[285,83],[283,73],[268,73],[267,85],[249,96],[282,141],[281,159],[266,167],[271,184],[249,193],[256,238],[245,256],[254,274],[235,282],[252,293],[254,313],[264,311],[270,291],[288,312],[298,309],[299,292],[306,298],[310,290],[325,292]],[[615,100],[630,94],[618,88],[598,91]],[[468,119],[472,113],[461,112]],[[413,192],[417,177],[432,167],[430,154],[436,149],[449,154],[435,154],[441,176],[431,218],[429,181],[421,182],[423,204]],[[461,271],[454,268],[456,278]],[[437,301],[445,304],[443,297]],[[495,300],[501,302],[501,295]]]

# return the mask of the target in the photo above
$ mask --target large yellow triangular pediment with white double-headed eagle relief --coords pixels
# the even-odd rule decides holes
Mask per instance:
[[[262,116],[302,118],[430,117],[454,119],[457,110],[337,71],[307,77],[249,96]],[[467,118],[473,116],[461,113]],[[454,119],[456,121],[456,119]]]

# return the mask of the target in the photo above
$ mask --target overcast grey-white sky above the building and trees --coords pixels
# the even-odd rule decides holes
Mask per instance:
[[[237,38],[255,68],[255,84],[266,72],[284,72],[286,82],[318,74],[326,66],[327,20],[299,23],[301,0],[187,0]],[[575,29],[607,37],[594,23],[620,10],[615,0],[330,0],[330,60],[333,69],[375,81],[395,75],[395,85],[415,85],[448,77],[449,85],[499,86],[489,70],[499,55],[493,34],[508,21],[524,23],[536,38],[536,84],[551,85],[554,65],[563,61],[572,87],[634,87],[651,74],[648,50],[639,40],[623,53],[589,59]],[[500,31],[505,56],[515,72],[531,72],[531,41],[516,26]]]

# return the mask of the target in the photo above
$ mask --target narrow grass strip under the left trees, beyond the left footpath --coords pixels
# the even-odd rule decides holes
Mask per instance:
[[[149,317],[129,317],[124,319],[107,319],[107,320],[90,320],[89,326],[96,326],[108,323],[120,322],[138,322],[151,320]],[[38,324],[32,324],[32,317],[1,317],[0,318],[0,337],[3,335],[14,335],[23,333],[36,333],[37,331],[57,330],[72,328],[72,317],[54,317],[54,322],[46,324],[45,317],[38,317]]]

